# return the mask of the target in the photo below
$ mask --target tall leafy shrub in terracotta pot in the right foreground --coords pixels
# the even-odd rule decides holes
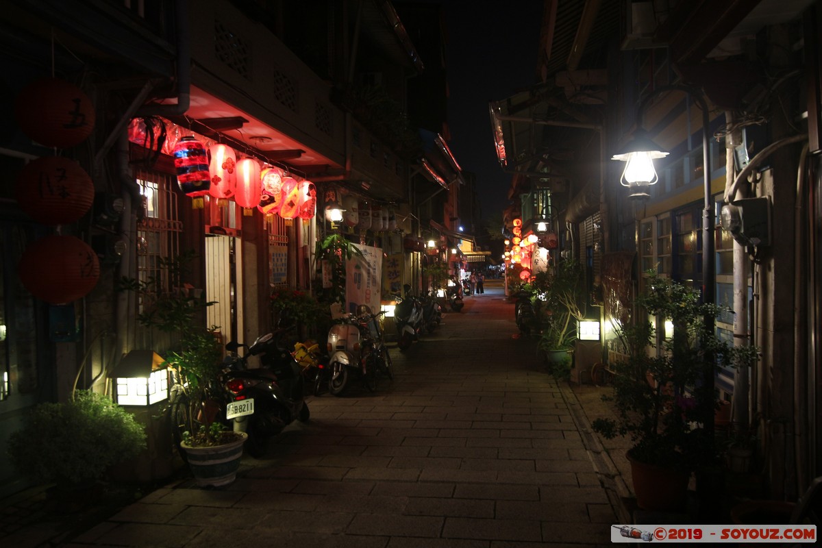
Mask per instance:
[[[637,297],[640,316],[661,316],[675,326],[663,341],[663,352],[651,355],[649,320],[617,328],[626,358],[611,364],[617,416],[593,421],[593,430],[610,439],[629,435],[627,452],[640,508],[672,510],[685,503],[691,472],[713,465],[713,440],[700,427],[706,413],[718,407],[715,394],[700,388],[703,375],[719,364],[732,365],[754,352],[732,348],[702,329],[705,315],[723,309],[700,302],[700,292],[649,273],[648,291]],[[706,361],[712,356],[713,363]]]

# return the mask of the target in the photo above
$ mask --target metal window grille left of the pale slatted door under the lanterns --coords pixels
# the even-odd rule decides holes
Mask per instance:
[[[176,177],[138,170],[136,179],[143,197],[143,215],[137,223],[136,234],[137,278],[142,282],[156,280],[153,287],[158,292],[167,293],[173,290],[172,280],[167,269],[161,267],[161,262],[180,254],[182,233],[177,195],[172,191]],[[144,302],[137,303],[138,313],[144,311],[144,306]],[[138,343],[148,344],[145,348],[152,348],[151,336],[148,329],[137,325]]]

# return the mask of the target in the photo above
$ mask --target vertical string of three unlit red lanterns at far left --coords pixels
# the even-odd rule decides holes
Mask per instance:
[[[31,82],[15,102],[18,126],[40,145],[70,148],[95,127],[95,108],[76,85],[58,78]],[[21,210],[38,223],[73,223],[90,209],[94,183],[79,163],[57,156],[32,160],[17,178]],[[74,236],[55,234],[26,246],[18,265],[21,282],[32,295],[53,305],[85,297],[99,279],[95,251]]]

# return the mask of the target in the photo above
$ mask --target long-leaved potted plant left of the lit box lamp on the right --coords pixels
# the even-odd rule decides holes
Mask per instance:
[[[584,273],[577,263],[563,260],[537,274],[531,287],[541,328],[538,348],[545,352],[549,368],[567,376],[569,352],[584,318]]]

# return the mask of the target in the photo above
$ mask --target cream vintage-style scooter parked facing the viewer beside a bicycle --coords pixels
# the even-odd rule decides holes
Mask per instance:
[[[376,389],[376,361],[367,359],[375,340],[368,325],[372,318],[343,314],[339,305],[332,305],[331,317],[339,323],[332,325],[328,332],[328,391],[341,396],[349,389],[352,378],[358,378],[373,392]]]

